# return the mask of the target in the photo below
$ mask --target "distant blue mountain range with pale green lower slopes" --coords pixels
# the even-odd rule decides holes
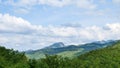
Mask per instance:
[[[34,59],[44,58],[45,54],[60,55],[62,57],[73,58],[95,49],[111,46],[116,42],[117,40],[96,41],[96,42],[77,45],[77,46],[76,45],[65,46],[64,43],[57,42],[43,49],[26,51],[25,54],[28,58],[34,58]]]

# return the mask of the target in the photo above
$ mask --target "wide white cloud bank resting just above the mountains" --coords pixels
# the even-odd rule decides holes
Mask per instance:
[[[72,25],[72,24],[71,24]],[[74,25],[74,24],[73,24]],[[120,39],[120,22],[103,27],[42,26],[9,14],[0,14],[0,45],[18,50],[39,49],[55,42],[81,44]]]

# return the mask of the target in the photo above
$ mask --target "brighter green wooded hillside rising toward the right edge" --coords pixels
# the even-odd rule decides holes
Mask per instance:
[[[75,59],[73,61],[75,61]],[[76,61],[78,66],[85,68],[119,68],[120,41],[112,46],[83,54],[76,58]]]

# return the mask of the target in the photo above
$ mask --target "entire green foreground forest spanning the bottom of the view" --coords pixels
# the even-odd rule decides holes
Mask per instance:
[[[57,55],[28,59],[25,53],[1,46],[0,68],[120,68],[120,41],[72,59]]]

